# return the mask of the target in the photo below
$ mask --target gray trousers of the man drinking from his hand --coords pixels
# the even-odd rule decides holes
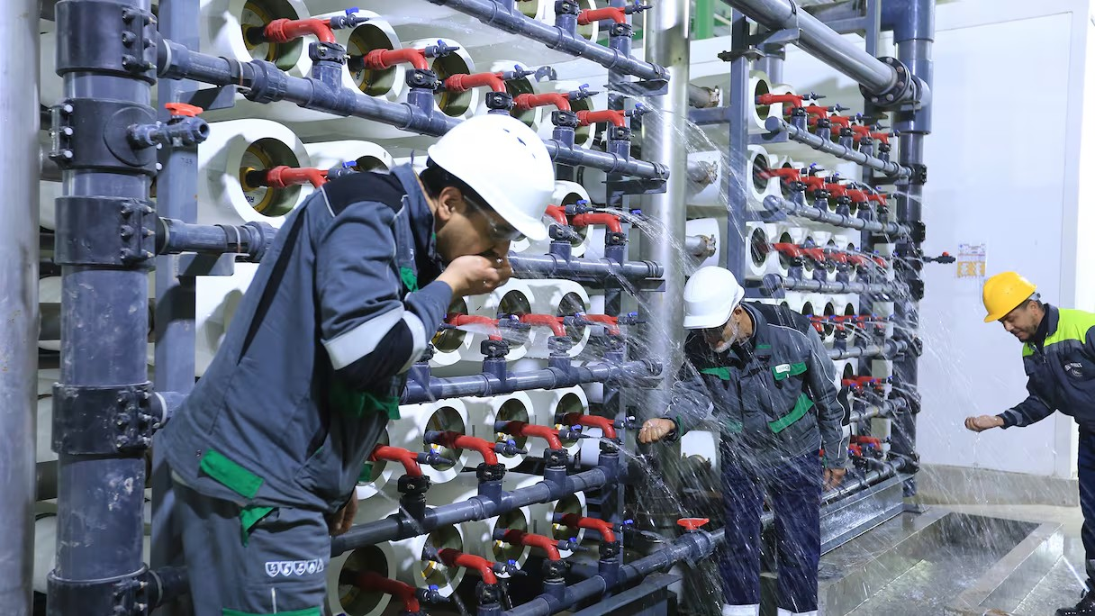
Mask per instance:
[[[331,537],[323,513],[240,505],[175,482],[195,616],[321,616]],[[250,528],[244,532],[244,522]]]

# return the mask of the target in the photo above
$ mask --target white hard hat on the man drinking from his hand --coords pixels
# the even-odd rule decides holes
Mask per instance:
[[[427,152],[522,235],[548,238],[543,216],[555,190],[555,168],[543,141],[525,123],[503,114],[475,116],[442,135]]]

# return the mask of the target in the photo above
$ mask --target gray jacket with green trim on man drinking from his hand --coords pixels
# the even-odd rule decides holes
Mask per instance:
[[[287,217],[205,376],[158,435],[172,470],[242,506],[336,510],[373,446],[367,415],[399,417],[405,373],[445,317],[440,270],[408,166],[325,184]]]

